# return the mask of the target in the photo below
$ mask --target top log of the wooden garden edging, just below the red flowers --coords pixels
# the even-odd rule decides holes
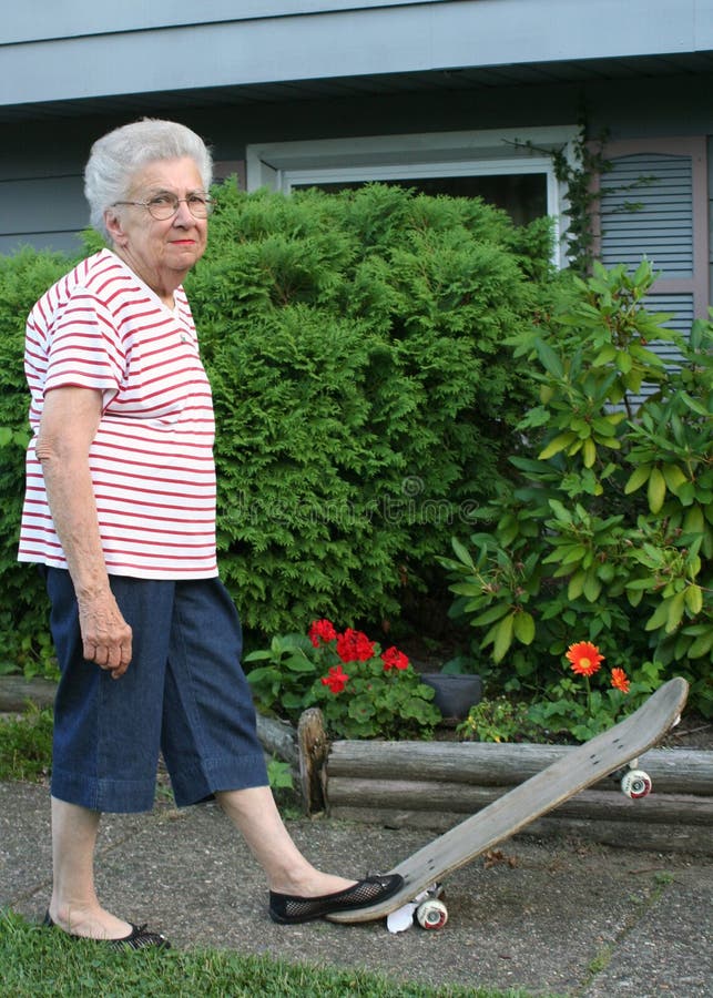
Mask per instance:
[[[572,751],[569,745],[495,742],[338,741],[329,750],[327,774],[513,786]],[[713,795],[713,752],[652,748],[640,765],[660,793]]]

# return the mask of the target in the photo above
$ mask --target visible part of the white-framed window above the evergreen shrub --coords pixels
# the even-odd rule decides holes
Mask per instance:
[[[549,150],[568,150],[577,128],[436,132],[279,142],[247,147],[247,190],[343,190],[381,181],[426,193],[480,195],[518,224],[556,220],[556,263],[564,265],[566,191]]]

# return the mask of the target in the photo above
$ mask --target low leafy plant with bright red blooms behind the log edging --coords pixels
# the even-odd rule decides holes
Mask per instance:
[[[338,634],[327,620],[313,622],[307,638],[274,638],[245,661],[266,663],[247,673],[262,710],[297,722],[304,710],[319,706],[333,737],[426,737],[441,720],[430,702],[434,690],[403,652],[383,652],[352,628]]]

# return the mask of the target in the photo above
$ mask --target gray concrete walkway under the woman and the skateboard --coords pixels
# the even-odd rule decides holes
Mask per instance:
[[[325,869],[383,872],[430,836],[328,819],[291,822]],[[622,844],[625,845],[625,844]],[[50,893],[44,787],[0,783],[0,906],[42,917]],[[449,923],[393,936],[384,923],[274,925],[262,872],[212,804],[102,823],[106,907],[177,947],[367,967],[441,989],[521,988],[578,998],[713,996],[713,858],[520,836],[446,885]]]

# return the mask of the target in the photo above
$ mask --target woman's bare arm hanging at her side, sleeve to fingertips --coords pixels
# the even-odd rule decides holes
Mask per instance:
[[[89,448],[101,418],[102,396],[91,388],[48,391],[37,440],[54,529],[74,583],[84,658],[114,679],[131,661],[131,628],[109,585]]]

